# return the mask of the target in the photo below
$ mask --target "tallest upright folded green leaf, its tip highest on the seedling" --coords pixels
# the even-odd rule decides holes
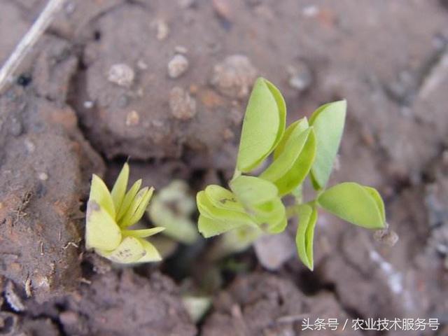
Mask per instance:
[[[279,90],[258,78],[253,85],[241,130],[239,172],[250,172],[274,151],[286,124],[286,104]]]

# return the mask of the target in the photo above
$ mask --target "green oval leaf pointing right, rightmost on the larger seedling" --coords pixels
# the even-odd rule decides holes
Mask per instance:
[[[347,222],[367,229],[382,229],[386,225],[384,203],[370,187],[345,182],[325,190],[318,197],[323,209]]]

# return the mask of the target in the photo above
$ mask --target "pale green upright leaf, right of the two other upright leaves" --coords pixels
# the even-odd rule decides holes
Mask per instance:
[[[323,189],[330,178],[344,132],[345,115],[346,101],[341,100],[319,107],[309,120],[317,141],[316,158],[311,168],[311,181],[316,190]]]

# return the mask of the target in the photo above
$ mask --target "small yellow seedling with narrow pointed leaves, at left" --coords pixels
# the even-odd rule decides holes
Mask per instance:
[[[157,249],[145,238],[164,228],[130,230],[144,215],[153,188],[140,190],[139,180],[126,191],[128,179],[127,163],[111,192],[99,176],[92,176],[85,220],[85,247],[121,264],[159,261],[162,258]]]

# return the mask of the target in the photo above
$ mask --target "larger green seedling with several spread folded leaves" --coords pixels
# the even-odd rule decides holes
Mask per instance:
[[[258,78],[248,100],[229,188],[211,185],[197,194],[202,235],[225,233],[227,250],[241,251],[260,235],[285,230],[289,218],[298,218],[297,253],[312,270],[319,208],[363,228],[385,228],[384,203],[377,190],[353,182],[326,188],[345,116],[346,102],[332,102],[319,107],[309,121],[302,118],[286,128],[281,93],[268,80]],[[271,154],[270,165],[258,176],[249,175]],[[307,177],[316,195],[304,203],[302,188]],[[282,199],[287,195],[295,202],[286,208]]]

